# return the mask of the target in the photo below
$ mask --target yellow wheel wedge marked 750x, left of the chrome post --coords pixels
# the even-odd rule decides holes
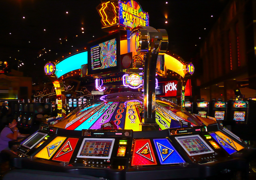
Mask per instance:
[[[133,131],[141,131],[140,119],[137,113],[134,103],[127,103],[126,117],[125,117],[125,128],[132,129]]]

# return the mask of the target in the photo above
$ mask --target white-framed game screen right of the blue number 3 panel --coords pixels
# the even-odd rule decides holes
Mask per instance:
[[[214,153],[213,149],[198,135],[175,137],[189,156]]]

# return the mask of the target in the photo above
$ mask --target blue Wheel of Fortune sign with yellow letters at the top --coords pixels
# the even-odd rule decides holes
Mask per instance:
[[[139,3],[134,0],[125,2],[118,1],[119,24],[134,28],[137,26],[149,26],[149,16],[143,12]]]

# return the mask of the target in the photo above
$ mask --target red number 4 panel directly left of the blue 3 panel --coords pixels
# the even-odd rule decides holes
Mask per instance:
[[[131,165],[157,165],[156,157],[149,139],[135,140]]]

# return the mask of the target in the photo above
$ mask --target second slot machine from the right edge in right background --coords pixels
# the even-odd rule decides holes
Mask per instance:
[[[221,125],[226,126],[227,122],[227,102],[218,99],[218,101],[211,102],[211,110],[209,115],[216,118]]]

